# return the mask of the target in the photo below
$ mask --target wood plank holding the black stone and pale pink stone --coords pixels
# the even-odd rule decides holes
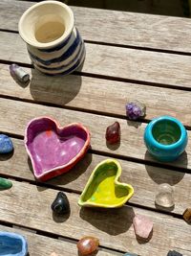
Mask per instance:
[[[191,255],[191,226],[182,220],[128,206],[105,211],[82,209],[77,205],[78,196],[68,193],[70,216],[53,217],[50,205],[56,193],[15,181],[10,190],[1,192],[0,220],[74,239],[96,236],[100,245],[144,256],[164,256],[169,249],[176,248]],[[154,221],[153,237],[147,244],[136,240],[132,226],[135,214],[144,214]]]

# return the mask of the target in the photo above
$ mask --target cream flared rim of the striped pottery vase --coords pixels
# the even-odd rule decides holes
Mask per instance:
[[[67,10],[67,12],[69,13],[70,15],[70,18],[71,18],[71,24],[68,28],[68,30],[66,32],[64,32],[63,35],[61,35],[59,38],[53,40],[52,42],[48,42],[48,43],[42,43],[42,42],[33,42],[32,40],[30,40],[26,35],[25,33],[23,32],[23,28],[22,28],[22,24],[23,24],[23,21],[25,19],[25,17],[30,13],[32,12],[32,10],[38,8],[39,6],[42,6],[42,5],[50,5],[50,4],[54,4],[54,5],[58,5],[60,6],[61,8]],[[33,47],[36,47],[38,49],[48,49],[48,48],[52,48],[53,46],[56,46],[57,44],[59,44],[61,41],[63,41],[65,38],[67,38],[73,31],[74,29],[74,13],[72,11],[72,9],[67,6],[66,4],[64,3],[61,3],[61,2],[58,2],[58,1],[43,1],[43,2],[40,2],[40,3],[36,3],[34,5],[32,5],[32,7],[30,7],[26,12],[24,12],[22,14],[22,16],[20,17],[20,20],[18,22],[18,31],[19,31],[19,35],[22,37],[22,39],[32,45]]]

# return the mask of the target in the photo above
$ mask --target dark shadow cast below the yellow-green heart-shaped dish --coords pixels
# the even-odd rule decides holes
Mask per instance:
[[[116,209],[82,207],[79,216],[99,230],[111,236],[117,236],[131,227],[135,213],[134,209],[129,206]]]

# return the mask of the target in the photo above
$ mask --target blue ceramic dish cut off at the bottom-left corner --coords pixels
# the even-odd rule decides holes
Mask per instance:
[[[26,256],[28,254],[27,240],[16,233],[0,232],[0,255]]]

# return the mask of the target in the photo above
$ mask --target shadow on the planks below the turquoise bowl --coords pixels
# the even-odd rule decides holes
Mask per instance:
[[[149,151],[146,151],[144,159],[146,161],[150,161],[152,158],[151,154]],[[182,162],[183,161],[183,168],[187,167],[187,153],[184,151],[180,158],[174,162],[175,166],[178,166],[176,163]],[[162,163],[160,163],[162,164]],[[148,175],[153,179],[158,184],[162,183],[168,183],[169,185],[173,186],[177,183],[180,182],[180,180],[183,178],[185,175],[184,173],[181,172],[176,172],[174,170],[168,170],[167,163],[163,163],[164,168],[161,167],[154,167],[154,166],[149,166],[145,165],[146,171]],[[173,166],[172,166],[173,168]]]

